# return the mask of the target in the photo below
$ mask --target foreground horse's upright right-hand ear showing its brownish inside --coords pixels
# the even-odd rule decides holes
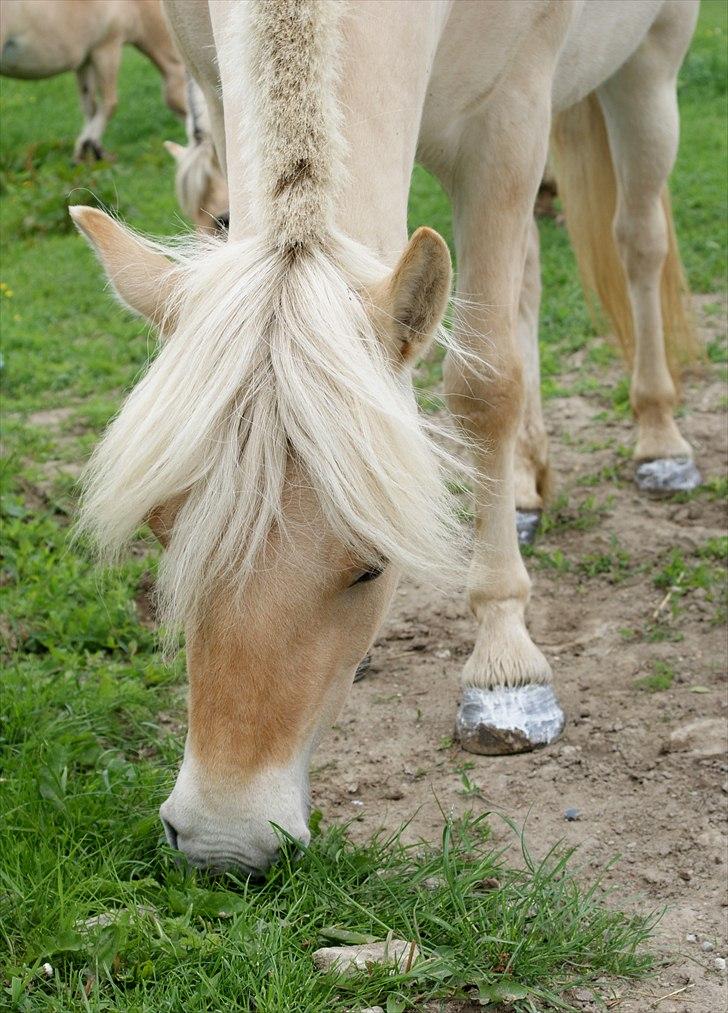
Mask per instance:
[[[411,365],[425,352],[442,321],[453,268],[444,239],[417,229],[390,278],[370,295],[378,328],[400,361]]]

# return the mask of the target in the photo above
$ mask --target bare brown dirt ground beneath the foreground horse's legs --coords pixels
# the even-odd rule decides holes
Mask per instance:
[[[707,319],[706,327],[717,332],[718,323]],[[582,375],[580,366],[575,357],[563,387]],[[622,376],[617,365],[600,372],[615,383]],[[686,385],[681,425],[706,478],[725,473],[724,397],[717,371]],[[717,590],[692,588],[665,602],[654,578],[673,549],[689,565],[700,563],[698,550],[726,533],[725,504],[715,495],[675,503],[638,494],[631,462],[615,449],[631,444],[632,425],[594,420],[601,406],[573,396],[546,409],[557,495],[568,504],[540,539],[541,559],[530,560],[530,625],[567,713],[562,739],[510,758],[474,757],[452,744],[473,623],[462,595],[446,599],[410,583],[398,593],[368,678],[317,754],[313,795],[327,819],[356,817],[362,836],[414,814],[409,837],[430,837],[439,833],[440,808],[495,807],[528,815],[537,856],[562,839],[578,846],[576,863],[593,873],[621,854],[605,876],[619,903],[667,905],[667,912],[657,937],[666,964],[637,991],[626,988],[619,1009],[720,1013],[728,1004],[715,963],[728,956],[726,630]],[[614,446],[593,449],[608,441]],[[655,673],[671,685],[660,692],[639,685]],[[703,719],[714,721],[713,742],[705,730],[696,741],[670,741]],[[580,815],[567,822],[571,807]],[[512,840],[497,819],[492,826],[496,840]],[[653,1007],[669,993],[677,994]],[[579,1003],[596,1009],[588,993]]]

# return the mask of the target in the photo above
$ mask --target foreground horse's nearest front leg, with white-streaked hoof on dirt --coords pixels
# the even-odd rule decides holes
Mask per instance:
[[[468,581],[478,633],[463,672],[456,732],[474,753],[545,746],[564,723],[549,664],[525,628],[531,581],[513,523],[524,386],[518,300],[549,135],[548,83],[530,83],[528,95],[496,102],[468,125],[453,187],[459,287],[466,297],[459,336],[475,362],[451,354],[446,391],[472,441],[478,479]],[[517,137],[514,123],[521,126]]]

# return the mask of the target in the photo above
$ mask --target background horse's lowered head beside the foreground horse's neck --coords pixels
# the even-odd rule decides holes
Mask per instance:
[[[164,142],[177,163],[177,201],[200,232],[215,234],[228,227],[228,184],[215,151],[205,96],[191,77],[187,79],[185,127],[186,146]]]

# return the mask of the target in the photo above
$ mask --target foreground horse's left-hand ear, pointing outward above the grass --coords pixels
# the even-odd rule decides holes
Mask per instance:
[[[160,329],[171,330],[174,264],[97,208],[68,210],[98,254],[118,299]]]

